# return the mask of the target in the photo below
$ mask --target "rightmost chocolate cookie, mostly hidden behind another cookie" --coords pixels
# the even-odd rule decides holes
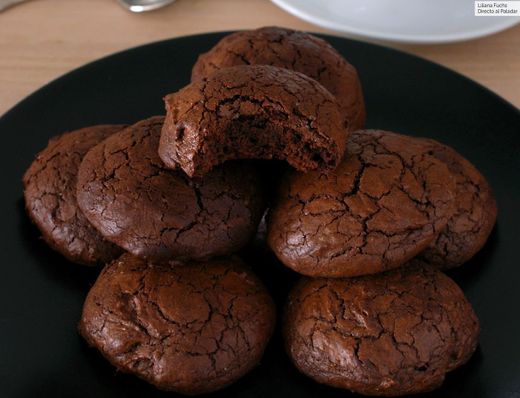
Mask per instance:
[[[443,161],[456,182],[455,213],[437,239],[420,254],[442,269],[471,259],[486,243],[497,218],[493,191],[482,174],[454,149],[434,140],[431,153]]]

